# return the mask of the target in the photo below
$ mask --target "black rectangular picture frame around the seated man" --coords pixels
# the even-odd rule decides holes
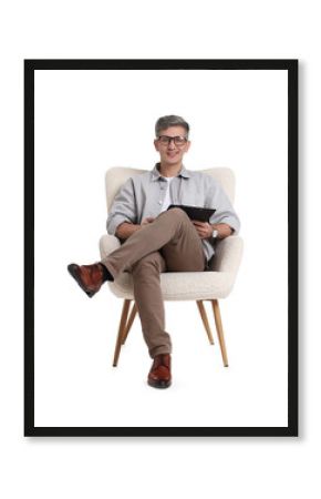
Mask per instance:
[[[298,60],[25,60],[24,61],[24,436],[296,437],[298,436]],[[35,427],[34,426],[34,71],[37,70],[288,71],[288,426]]]

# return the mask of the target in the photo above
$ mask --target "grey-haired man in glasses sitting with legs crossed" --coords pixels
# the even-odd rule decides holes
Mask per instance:
[[[93,265],[69,265],[69,272],[91,297],[105,281],[131,272],[134,298],[153,365],[147,383],[167,388],[172,381],[172,343],[165,332],[162,272],[201,272],[209,268],[215,238],[238,232],[239,220],[213,177],[187,171],[183,157],[190,146],[189,125],[180,116],[159,118],[154,145],[161,161],[152,172],[130,179],[115,196],[107,231],[122,246]],[[209,223],[190,221],[170,204],[216,208]]]

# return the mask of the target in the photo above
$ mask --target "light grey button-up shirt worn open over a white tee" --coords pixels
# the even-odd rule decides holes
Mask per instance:
[[[114,235],[123,222],[141,224],[147,216],[156,217],[162,212],[167,182],[159,174],[159,163],[151,172],[133,175],[116,194],[107,217],[107,232]],[[240,222],[234,207],[216,180],[203,172],[184,166],[169,185],[173,204],[186,204],[215,208],[210,224],[228,224],[235,233]],[[214,240],[201,240],[207,259],[214,255]]]

